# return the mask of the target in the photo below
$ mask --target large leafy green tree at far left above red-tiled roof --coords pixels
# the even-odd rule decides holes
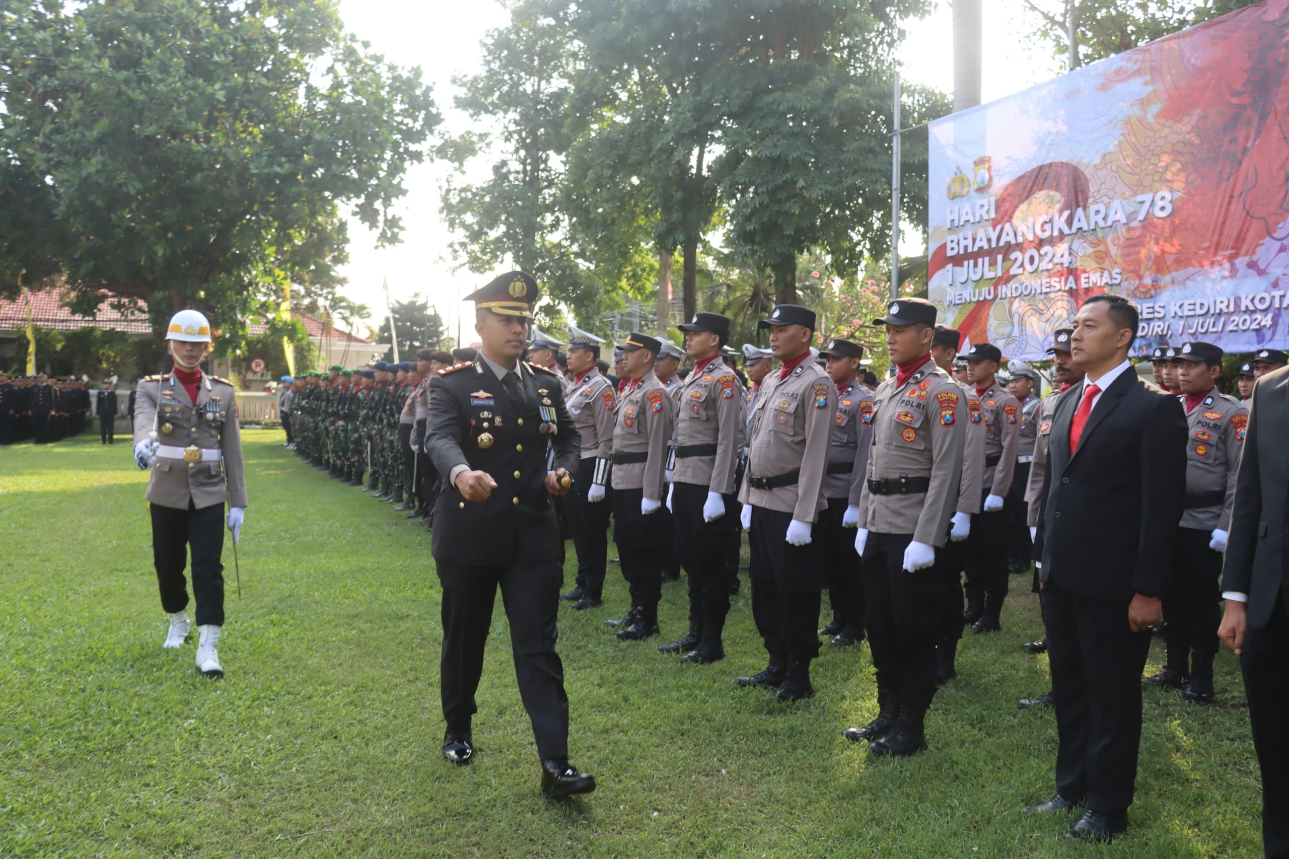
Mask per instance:
[[[382,244],[440,116],[416,68],[333,0],[0,0],[0,294],[61,271],[72,306],[144,298],[237,333],[334,284],[343,212]]]

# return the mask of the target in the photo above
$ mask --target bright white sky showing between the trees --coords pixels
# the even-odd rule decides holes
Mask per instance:
[[[993,101],[1009,95],[1060,72],[1060,63],[1048,52],[1034,50],[1017,34],[1034,23],[1014,0],[984,0],[985,50],[982,93]],[[505,10],[495,0],[431,3],[415,0],[342,0],[340,14],[351,32],[371,43],[374,50],[403,66],[420,66],[423,77],[434,88],[434,99],[443,112],[443,126],[459,133],[468,117],[452,110],[454,75],[469,75],[480,67],[480,40],[507,22]],[[910,27],[904,50],[905,80],[953,92],[953,22],[947,3],[924,21]],[[487,175],[485,163],[472,165],[472,174]],[[455,271],[449,244],[451,233],[438,214],[438,190],[449,175],[445,164],[422,164],[407,178],[407,196],[398,206],[403,219],[403,242],[376,249],[375,237],[357,221],[349,223],[349,282],[342,290],[351,299],[371,308],[375,324],[384,317],[383,279],[389,281],[391,301],[428,295],[438,307],[455,335],[458,317],[465,312],[465,342],[472,339],[472,306],[460,298],[491,273]]]

